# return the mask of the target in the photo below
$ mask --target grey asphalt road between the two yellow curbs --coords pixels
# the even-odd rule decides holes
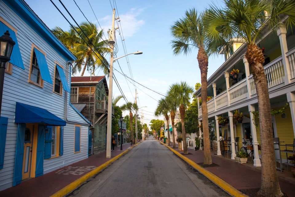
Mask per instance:
[[[149,137],[68,196],[229,196]]]

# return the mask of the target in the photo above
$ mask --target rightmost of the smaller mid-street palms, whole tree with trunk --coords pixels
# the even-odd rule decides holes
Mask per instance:
[[[183,154],[188,154],[187,151],[187,135],[184,127],[185,110],[190,104],[190,99],[193,94],[193,87],[189,86],[186,82],[174,83],[170,86],[169,96],[174,96],[179,105],[179,112],[181,116],[181,130],[183,139]]]

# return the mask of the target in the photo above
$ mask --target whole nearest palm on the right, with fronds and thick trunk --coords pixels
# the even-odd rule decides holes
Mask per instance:
[[[263,69],[265,58],[257,43],[266,29],[278,27],[281,17],[286,18],[287,28],[295,25],[295,1],[225,0],[224,3],[223,8],[213,5],[206,10],[204,26],[214,41],[210,49],[212,52],[221,49],[228,51],[232,38],[247,44],[245,57],[251,66],[257,92],[263,163],[258,193],[262,196],[282,196],[276,172],[268,86]]]

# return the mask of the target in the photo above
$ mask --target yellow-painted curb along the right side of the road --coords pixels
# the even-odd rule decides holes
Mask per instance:
[[[160,142],[161,144],[168,147],[172,152],[175,153],[175,155],[179,156],[181,159],[183,159],[185,162],[190,164],[193,168],[195,168],[197,171],[199,171],[202,175],[206,176],[208,179],[210,179],[213,183],[221,187],[224,191],[229,193],[230,195],[236,196],[236,197],[249,197],[246,194],[243,194],[242,192],[238,191],[236,188],[231,186],[230,184],[226,183],[224,180],[220,179],[218,176],[214,175],[212,172],[207,171],[205,168],[199,166],[195,162],[193,162],[191,159],[188,159],[186,156],[181,155],[178,151],[173,150],[171,147],[167,146],[163,142]]]

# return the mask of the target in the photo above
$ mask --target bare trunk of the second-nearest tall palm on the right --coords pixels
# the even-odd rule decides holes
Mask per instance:
[[[203,123],[203,142],[204,142],[204,164],[212,164],[208,111],[207,111],[207,72],[208,72],[208,56],[203,47],[199,48],[198,56],[199,68],[201,71],[201,98],[202,98],[202,123]]]

